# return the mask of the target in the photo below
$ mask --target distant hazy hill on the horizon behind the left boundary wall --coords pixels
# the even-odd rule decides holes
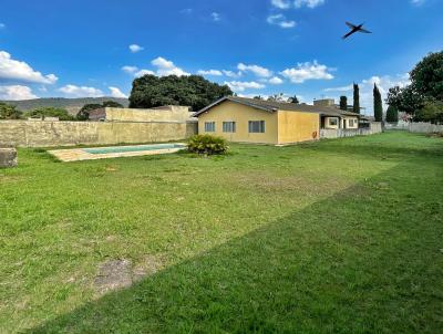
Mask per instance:
[[[52,106],[65,108],[70,114],[76,115],[81,107],[85,104],[97,103],[102,104],[104,101],[114,101],[127,107],[130,101],[127,98],[116,97],[80,97],[80,98],[64,98],[64,97],[48,97],[34,98],[22,101],[0,101],[11,105],[16,105],[19,111],[29,111],[38,107]]]

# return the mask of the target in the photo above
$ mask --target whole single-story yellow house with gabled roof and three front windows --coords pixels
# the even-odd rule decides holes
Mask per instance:
[[[334,107],[225,96],[193,115],[198,133],[229,142],[291,144],[319,139],[320,128],[358,128],[359,114]]]

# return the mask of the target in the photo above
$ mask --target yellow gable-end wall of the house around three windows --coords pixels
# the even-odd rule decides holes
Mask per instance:
[[[265,133],[250,134],[249,121],[265,121]],[[215,122],[215,132],[206,133],[205,122]],[[223,122],[236,122],[236,132],[224,133]],[[277,122],[277,113],[225,101],[199,115],[198,133],[219,136],[229,142],[278,144]]]

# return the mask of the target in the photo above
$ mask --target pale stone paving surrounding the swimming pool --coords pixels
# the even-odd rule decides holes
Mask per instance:
[[[182,144],[183,143],[172,143],[172,144]],[[155,145],[155,144],[153,144]],[[94,147],[94,148],[115,148],[115,147],[138,147],[146,146],[145,145],[130,145],[130,146],[104,146],[104,147]],[[183,149],[179,148],[163,148],[163,149],[151,149],[151,150],[134,150],[134,152],[119,152],[119,153],[103,153],[103,154],[92,154],[87,153],[84,148],[71,148],[71,149],[53,149],[48,150],[49,154],[56,157],[59,160],[64,163],[71,161],[81,161],[81,160],[96,160],[96,159],[110,159],[110,158],[122,158],[122,157],[137,157],[137,156],[148,156],[148,155],[157,155],[157,154],[169,154],[176,153]]]

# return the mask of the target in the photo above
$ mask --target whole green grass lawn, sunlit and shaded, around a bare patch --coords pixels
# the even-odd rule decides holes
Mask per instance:
[[[0,170],[0,333],[442,330],[442,138],[231,152],[20,149]],[[151,274],[103,294],[117,259]]]

